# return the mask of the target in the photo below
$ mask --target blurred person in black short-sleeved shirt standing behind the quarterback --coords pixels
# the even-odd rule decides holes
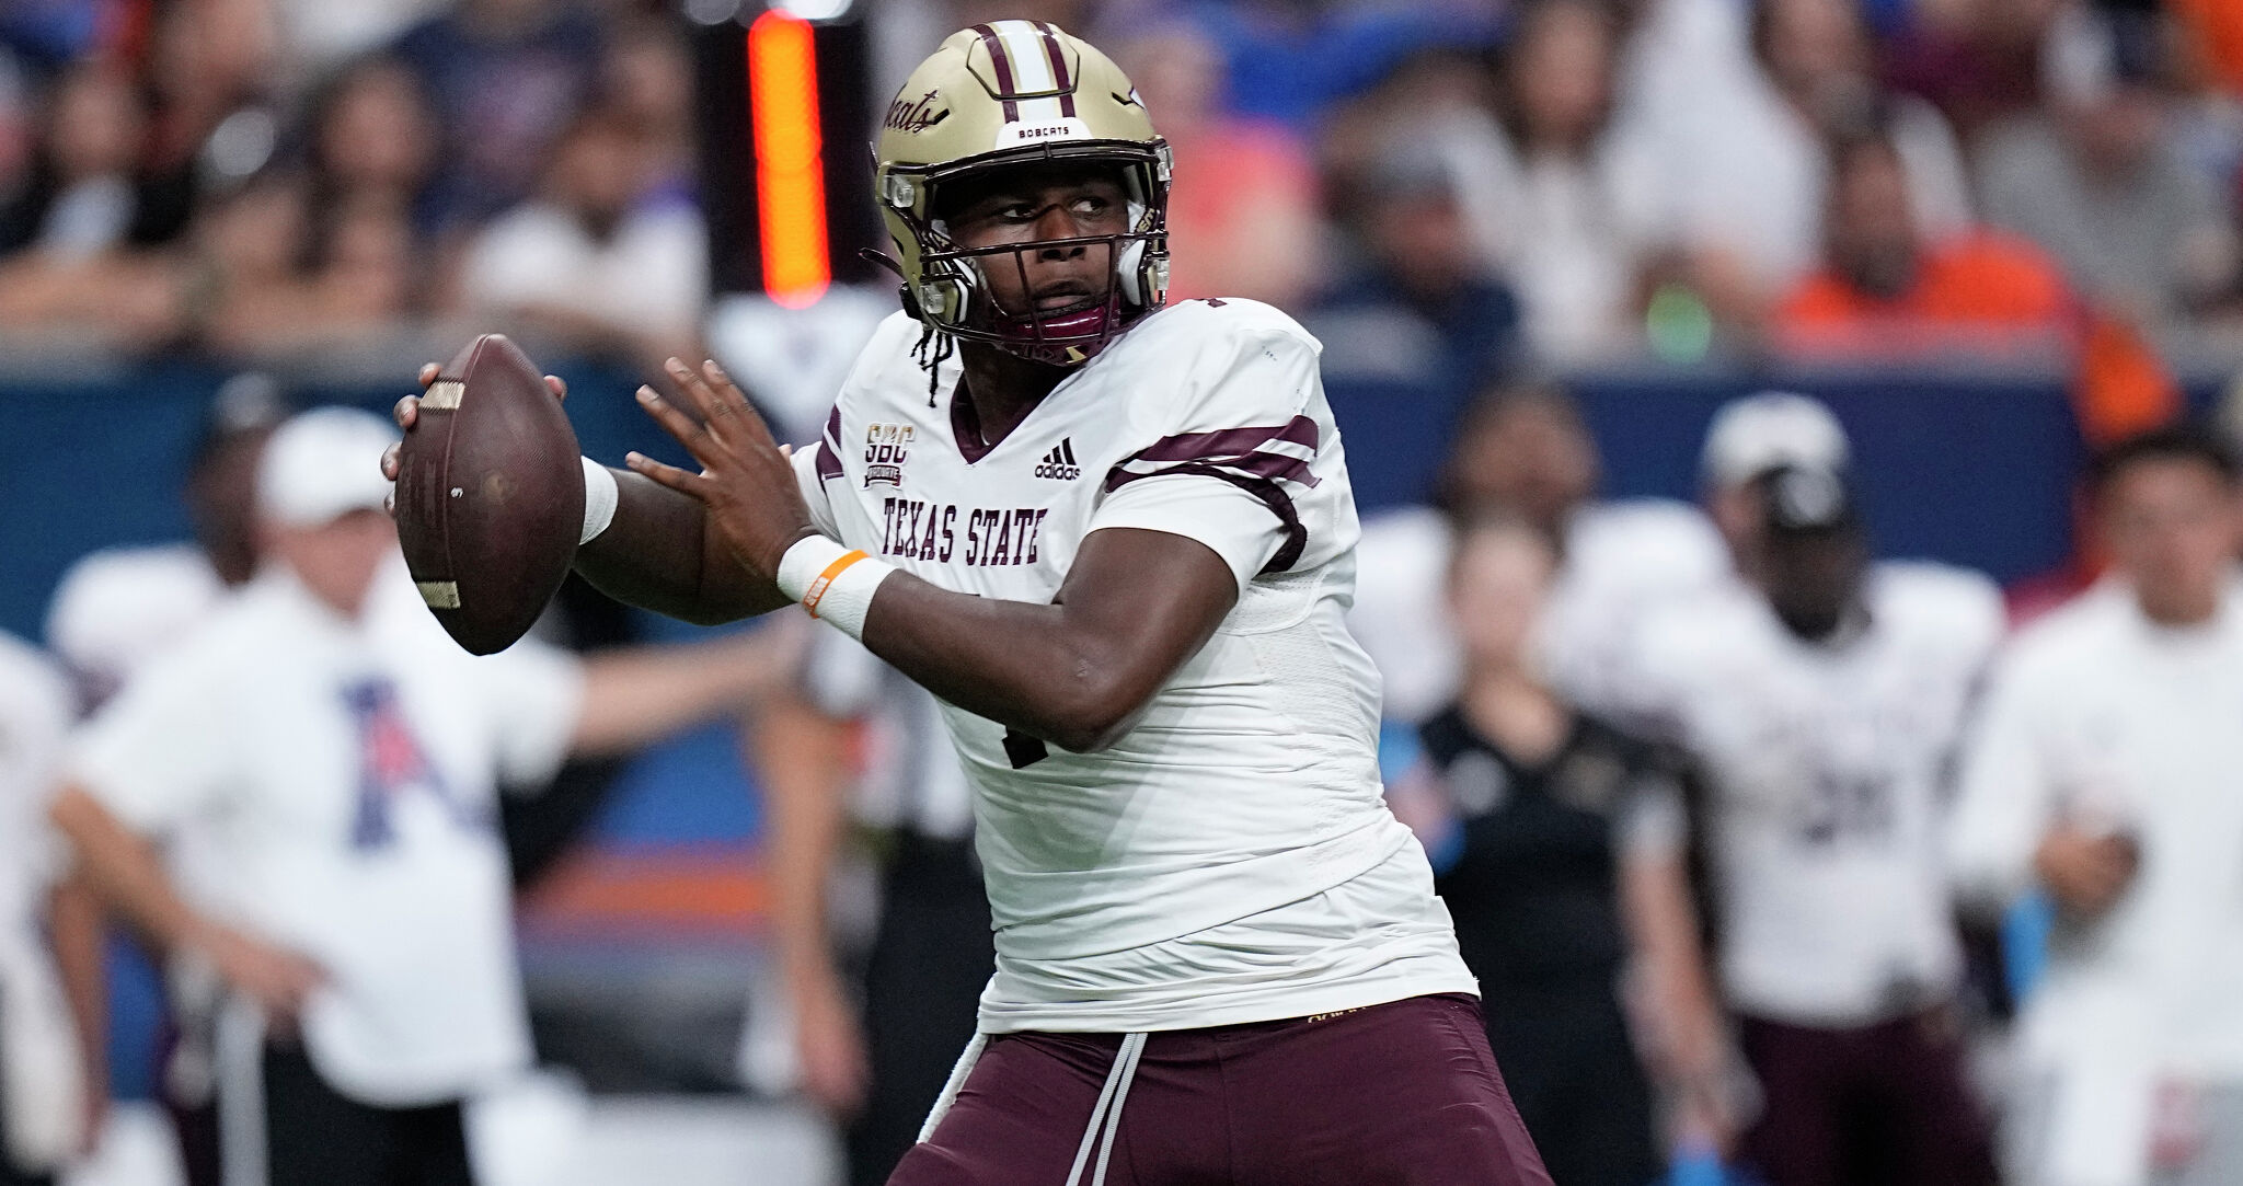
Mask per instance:
[[[1557,552],[1525,520],[1458,529],[1447,592],[1465,684],[1418,729],[1424,760],[1388,803],[1433,859],[1487,1040],[1550,1177],[1644,1186],[1667,1166],[1646,1065],[1673,1101],[1676,1143],[1718,1146],[1732,1123],[1725,1043],[1673,765],[1534,670],[1554,578]],[[1642,1018],[1633,1036],[1624,995]]]

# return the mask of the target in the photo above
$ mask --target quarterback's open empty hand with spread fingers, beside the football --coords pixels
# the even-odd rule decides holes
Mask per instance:
[[[684,392],[691,415],[662,399],[655,388],[639,388],[639,406],[693,453],[702,471],[686,473],[644,453],[633,453],[624,462],[673,491],[698,498],[731,543],[733,556],[751,574],[774,581],[778,558],[794,547],[794,540],[816,531],[803,491],[794,484],[794,462],[716,361],[693,370],[671,359],[666,368]]]

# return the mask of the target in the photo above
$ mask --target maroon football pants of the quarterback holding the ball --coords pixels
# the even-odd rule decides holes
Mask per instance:
[[[1083,1186],[1119,1034],[1000,1034],[888,1186]],[[1106,1186],[1550,1186],[1480,1002],[1151,1034]],[[1095,1161],[1095,1157],[1092,1157]]]

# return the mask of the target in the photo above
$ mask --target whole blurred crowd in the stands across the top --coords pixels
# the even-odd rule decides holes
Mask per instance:
[[[870,20],[998,11],[953,9]],[[1716,343],[2243,325],[2218,0],[1025,16],[1113,45],[1160,114],[1178,294],[1312,312],[1395,404]],[[659,0],[11,4],[0,330],[258,356],[464,318],[659,356],[707,298],[682,34]]]

